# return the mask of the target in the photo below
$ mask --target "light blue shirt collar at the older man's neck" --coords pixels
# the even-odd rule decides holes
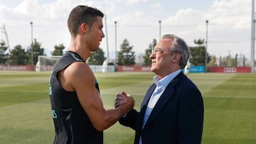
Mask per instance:
[[[172,72],[171,74],[166,75],[166,77],[160,80],[157,78],[157,76],[154,76],[153,80],[154,80],[154,83],[156,84],[156,87],[162,86],[164,87],[164,89],[166,89],[166,87],[172,81],[172,79],[174,79],[174,77],[176,77],[180,72],[181,70],[176,70],[175,72]]]

